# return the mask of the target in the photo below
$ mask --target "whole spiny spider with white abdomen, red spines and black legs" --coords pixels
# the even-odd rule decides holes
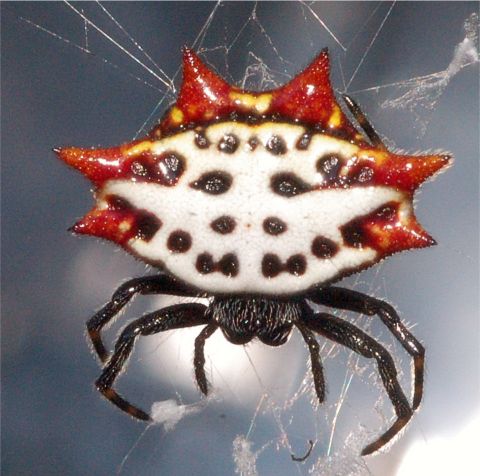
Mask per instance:
[[[420,405],[424,347],[391,305],[332,284],[393,253],[435,244],[415,219],[413,194],[450,156],[387,150],[344,95],[357,130],[335,99],[329,70],[325,49],[287,84],[252,92],[229,85],[185,48],[176,103],[149,136],[107,149],[55,149],[96,188],[95,207],[72,231],[111,240],[161,270],[123,284],[87,323],[104,365],[96,387],[124,412],[150,420],[113,387],[136,339],[193,326],[203,327],[194,369],[205,395],[204,347],[218,329],[233,344],[258,338],[279,346],[296,328],[320,402],[316,335],[375,359],[396,419],[362,455],[389,442]],[[137,294],[209,304],[144,315],[123,329],[109,354],[101,332]],[[387,350],[312,303],[380,318],[413,359],[411,404]]]

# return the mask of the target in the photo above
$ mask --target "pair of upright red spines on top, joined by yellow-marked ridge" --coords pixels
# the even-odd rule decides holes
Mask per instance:
[[[280,88],[253,92],[229,85],[190,49],[183,53],[183,81],[176,103],[150,136],[160,138],[188,124],[227,119],[231,114],[280,117],[332,131],[348,140],[361,137],[338,105],[330,84],[328,51]]]

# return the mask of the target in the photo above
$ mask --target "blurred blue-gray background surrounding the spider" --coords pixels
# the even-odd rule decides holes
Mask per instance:
[[[427,348],[421,410],[389,453],[366,464],[342,460],[353,452],[351,438],[359,425],[369,425],[368,402],[383,391],[374,383],[370,397],[363,397],[370,381],[365,377],[349,393],[345,415],[351,411],[355,419],[339,424],[337,459],[325,459],[335,389],[345,374],[336,375],[348,361],[348,353],[339,353],[339,363],[326,362],[329,404],[319,409],[326,414],[315,434],[302,417],[312,411],[308,401],[284,412],[292,416],[292,429],[285,431],[298,455],[309,438],[318,437],[303,465],[293,463],[286,448],[277,448],[282,433],[278,421],[262,413],[264,407],[254,420],[262,395],[282,404],[300,386],[307,353],[297,336],[273,351],[259,343],[249,346],[253,364],[242,349],[217,339],[207,347],[212,380],[227,390],[172,432],[161,426],[145,431],[93,389],[100,369],[85,341],[86,319],[121,282],[154,270],[113,245],[66,231],[92,206],[90,185],[51,149],[129,141],[153,126],[173,96],[165,97],[165,85],[107,38],[155,70],[101,5],[72,5],[104,34],[66,3],[1,4],[2,474],[233,474],[232,441],[247,434],[252,421],[248,435],[252,451],[261,450],[260,475],[308,474],[314,464],[319,474],[438,475],[451,474],[442,471],[452,463],[457,474],[478,474],[461,470],[475,456],[466,435],[474,436],[480,426],[478,62],[461,67],[474,60],[467,48],[470,53],[457,55],[463,64],[451,63],[468,36],[464,22],[478,3],[105,4],[177,86],[183,45],[200,49],[229,81],[252,89],[287,81],[328,46],[336,89],[346,89],[362,104],[389,145],[444,149],[456,158],[451,169],[423,187],[417,203],[420,222],[439,245],[394,256],[342,283],[387,299],[414,325]],[[408,81],[449,65],[448,73]],[[109,339],[128,319],[159,305],[165,300],[139,299]],[[169,398],[199,401],[191,368],[194,334],[174,334],[139,343],[119,382],[122,393],[144,408]],[[408,367],[400,354],[396,349],[395,357]],[[374,366],[364,364],[373,374]],[[391,416],[384,398],[381,405]],[[376,425],[368,426],[367,440],[380,432]]]

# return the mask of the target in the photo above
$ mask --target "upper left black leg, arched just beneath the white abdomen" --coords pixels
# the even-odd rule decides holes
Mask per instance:
[[[122,284],[105,304],[87,322],[87,332],[95,352],[102,362],[108,359],[108,352],[102,342],[101,330],[122,310],[136,294],[173,294],[177,296],[195,296],[194,291],[167,275],[145,276],[131,279]]]

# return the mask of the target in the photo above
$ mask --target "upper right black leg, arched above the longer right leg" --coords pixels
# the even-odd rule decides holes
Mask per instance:
[[[308,297],[317,304],[365,314],[377,315],[395,336],[402,347],[412,356],[414,365],[412,408],[416,410],[423,395],[425,373],[425,348],[408,331],[395,309],[386,302],[351,289],[328,287]]]

